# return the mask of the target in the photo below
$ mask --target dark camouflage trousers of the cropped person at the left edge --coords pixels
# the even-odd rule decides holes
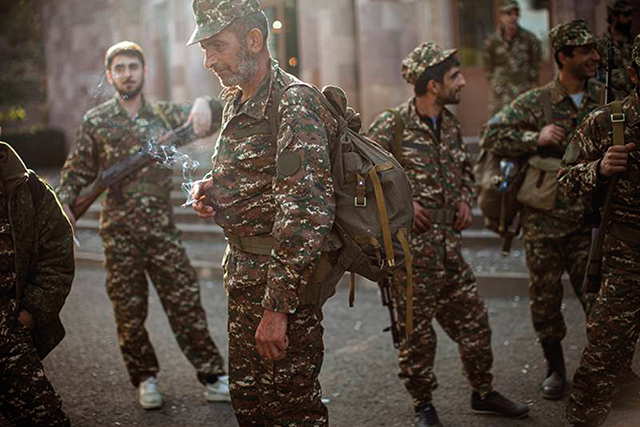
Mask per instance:
[[[31,333],[18,321],[0,347],[0,414],[15,426],[71,425],[45,376]]]

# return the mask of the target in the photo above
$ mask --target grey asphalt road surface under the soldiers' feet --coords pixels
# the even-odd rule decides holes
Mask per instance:
[[[169,331],[155,293],[147,325],[163,368],[159,382],[165,405],[157,411],[138,407],[135,389],[117,349],[113,314],[103,283],[103,271],[78,271],[62,313],[67,337],[45,361],[47,375],[62,395],[73,424],[236,426],[230,405],[204,401],[201,386]],[[202,297],[214,339],[226,355],[226,299],[221,284],[203,281]],[[456,348],[438,329],[436,373],[440,387],[434,403],[442,422],[447,426],[565,425],[563,403],[545,401],[538,395],[545,367],[530,324],[526,296],[492,292],[486,303],[494,331],[496,388],[527,402],[531,415],[511,421],[472,414]],[[564,314],[570,324],[564,346],[569,372],[573,372],[585,344],[584,318],[573,298],[567,298]],[[381,332],[387,324],[386,316],[373,288],[358,289],[355,308],[348,307],[344,287],[327,303],[321,382],[333,426],[411,425],[411,404],[396,376],[395,351],[389,335]],[[637,362],[635,366],[640,371]],[[616,410],[607,425],[640,425],[640,411]]]

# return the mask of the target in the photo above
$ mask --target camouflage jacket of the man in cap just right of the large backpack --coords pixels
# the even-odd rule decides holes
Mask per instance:
[[[427,209],[456,211],[462,201],[472,206],[474,178],[470,155],[462,141],[460,121],[446,108],[438,120],[439,136],[420,118],[415,99],[397,107],[404,122],[402,150],[394,153],[411,182],[414,201]],[[396,115],[380,114],[367,136],[393,152]],[[462,264],[462,236],[451,223],[433,223],[431,230],[411,235],[416,266],[442,270]]]

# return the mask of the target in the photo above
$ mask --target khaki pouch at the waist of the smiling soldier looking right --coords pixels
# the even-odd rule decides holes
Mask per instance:
[[[555,157],[533,156],[527,162],[527,172],[517,199],[525,206],[550,211],[556,204],[558,180],[562,160]]]

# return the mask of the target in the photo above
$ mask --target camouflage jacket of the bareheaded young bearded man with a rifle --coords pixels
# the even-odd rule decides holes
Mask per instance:
[[[210,105],[213,133],[219,126],[222,106],[214,99]],[[76,149],[62,168],[57,189],[60,202],[73,205],[82,188],[98,178],[102,170],[148,149],[148,144],[182,125],[190,108],[172,102],[148,103],[143,98],[138,115],[131,118],[114,97],[91,109],[76,132]],[[172,172],[166,163],[166,159],[158,159],[133,174],[122,187],[123,203],[118,202],[115,191],[107,190],[102,203],[102,230],[127,227],[144,232],[151,227],[151,213],[163,212],[163,221],[170,221]]]

